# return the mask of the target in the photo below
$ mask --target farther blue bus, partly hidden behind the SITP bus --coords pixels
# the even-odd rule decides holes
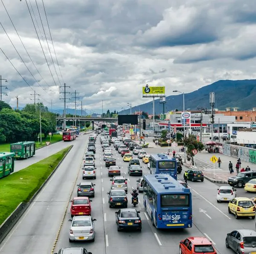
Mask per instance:
[[[149,158],[150,174],[169,174],[177,180],[177,162],[166,154],[151,154]]]

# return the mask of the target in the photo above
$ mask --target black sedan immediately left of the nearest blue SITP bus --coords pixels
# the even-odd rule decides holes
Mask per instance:
[[[140,212],[134,208],[120,209],[116,212],[117,231],[135,229],[141,231]]]

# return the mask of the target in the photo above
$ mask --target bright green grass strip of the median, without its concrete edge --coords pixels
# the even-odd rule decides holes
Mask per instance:
[[[30,200],[69,149],[70,146],[38,163],[0,179],[0,225],[21,202],[26,203]]]

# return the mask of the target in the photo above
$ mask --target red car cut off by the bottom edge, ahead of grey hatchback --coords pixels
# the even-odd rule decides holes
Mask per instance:
[[[189,237],[180,241],[180,254],[217,254],[212,242],[205,237]]]

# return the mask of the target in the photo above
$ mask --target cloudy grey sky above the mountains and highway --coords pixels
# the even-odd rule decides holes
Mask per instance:
[[[16,96],[20,106],[32,103],[36,91],[49,108],[51,100],[62,108],[64,83],[101,112],[102,100],[118,111],[148,102],[145,83],[172,95],[256,77],[252,0],[0,0],[0,22],[3,100],[13,107]]]

